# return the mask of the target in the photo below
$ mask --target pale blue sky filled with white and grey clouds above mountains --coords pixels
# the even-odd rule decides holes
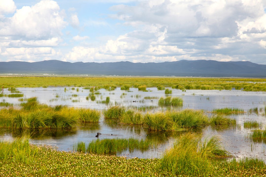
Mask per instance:
[[[0,0],[0,61],[266,64],[266,0]]]

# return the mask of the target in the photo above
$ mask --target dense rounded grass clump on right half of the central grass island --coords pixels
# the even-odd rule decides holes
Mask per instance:
[[[208,117],[199,110],[185,109],[179,112],[168,112],[168,117],[174,122],[173,129],[203,128],[208,124]]]

